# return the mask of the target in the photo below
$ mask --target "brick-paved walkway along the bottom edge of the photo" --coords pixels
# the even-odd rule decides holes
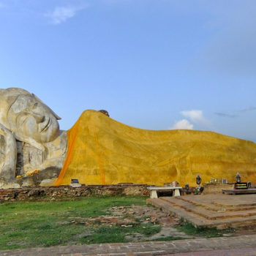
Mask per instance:
[[[52,246],[0,251],[1,256],[256,255],[256,235],[121,244]]]

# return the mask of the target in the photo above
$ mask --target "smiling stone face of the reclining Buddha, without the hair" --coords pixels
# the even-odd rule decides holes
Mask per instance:
[[[60,119],[34,94],[19,95],[7,113],[10,129],[19,140],[47,143],[59,136]]]

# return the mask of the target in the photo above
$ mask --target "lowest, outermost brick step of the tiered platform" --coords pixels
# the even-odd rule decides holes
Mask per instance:
[[[147,203],[151,203],[166,211],[172,216],[182,218],[187,222],[192,223],[195,227],[217,227],[217,229],[225,229],[228,227],[249,227],[256,225],[256,217],[236,217],[227,219],[206,219],[200,215],[194,214],[193,212],[186,211],[184,208],[175,206],[166,200],[160,198],[148,198]]]

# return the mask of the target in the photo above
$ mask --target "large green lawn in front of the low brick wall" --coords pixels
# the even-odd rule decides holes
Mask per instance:
[[[54,202],[1,203],[0,249],[123,242],[127,233],[149,236],[159,232],[159,226],[140,222],[133,227],[72,224],[72,220],[78,217],[108,215],[110,207],[132,204],[146,205],[146,197],[105,196]]]

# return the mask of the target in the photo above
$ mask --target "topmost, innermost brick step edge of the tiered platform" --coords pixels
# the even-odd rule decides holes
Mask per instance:
[[[197,203],[197,201],[195,200],[196,197],[195,196],[193,197],[182,196],[182,197],[176,197],[176,198],[179,200],[184,200],[188,203],[193,203],[195,204],[195,206],[202,206],[211,211],[222,211],[223,209],[225,209],[225,211],[241,211],[241,210],[253,210],[253,209],[256,210],[256,203],[241,203],[239,205],[233,205],[233,206],[225,205],[217,202],[212,202],[211,204],[204,203],[204,202]]]

